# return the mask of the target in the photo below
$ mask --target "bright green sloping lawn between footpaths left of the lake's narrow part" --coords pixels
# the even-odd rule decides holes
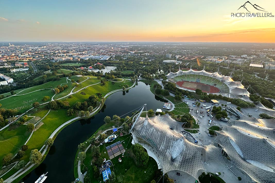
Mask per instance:
[[[45,110],[44,112],[48,111]],[[67,109],[51,110],[49,114],[42,119],[44,124],[32,134],[32,137],[27,142],[29,148],[26,150],[26,155],[23,159],[28,161],[31,150],[40,150],[45,140],[50,137],[54,130],[72,118],[73,116],[67,116]]]

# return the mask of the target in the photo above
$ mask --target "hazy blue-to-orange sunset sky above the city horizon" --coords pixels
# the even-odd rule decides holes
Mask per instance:
[[[246,1],[0,0],[0,41],[274,43],[275,17],[231,17]],[[275,15],[274,0],[249,1]]]

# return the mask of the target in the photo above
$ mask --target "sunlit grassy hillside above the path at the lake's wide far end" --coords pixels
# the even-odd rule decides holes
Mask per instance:
[[[98,83],[97,85],[89,86],[75,94],[70,95],[72,96],[72,98],[67,97],[67,101],[72,106],[75,102],[84,102],[91,95],[95,95],[98,92],[102,94],[102,97],[104,97],[107,93],[111,91],[122,89],[123,85],[123,82],[114,82],[114,84],[112,84],[112,81],[105,81],[105,85],[103,86],[101,86],[101,83]],[[129,82],[128,85],[132,86],[133,83]],[[81,92],[85,92],[86,95],[81,94]]]

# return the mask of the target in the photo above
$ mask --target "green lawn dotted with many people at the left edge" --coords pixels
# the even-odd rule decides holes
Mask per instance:
[[[0,100],[0,102],[2,104],[2,108],[17,109],[19,112],[23,113],[32,108],[32,103],[34,102],[39,102],[40,104],[44,103],[42,98],[45,95],[52,97],[54,95],[53,90],[46,89],[25,95],[13,95],[12,97]]]

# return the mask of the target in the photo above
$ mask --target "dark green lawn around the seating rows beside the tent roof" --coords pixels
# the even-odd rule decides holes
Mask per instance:
[[[154,179],[155,172],[158,170],[158,165],[156,161],[149,157],[148,164],[145,166],[137,166],[133,160],[133,157],[131,157],[131,141],[132,137],[131,135],[125,135],[122,137],[118,137],[113,142],[105,143],[100,146],[100,152],[101,157],[109,159],[108,153],[106,151],[106,146],[109,146],[117,141],[123,141],[122,145],[125,148],[126,152],[124,153],[124,157],[122,155],[119,155],[115,158],[113,158],[111,161],[114,165],[114,167],[111,167],[111,171],[114,171],[116,175],[116,182],[150,182],[152,179]],[[122,162],[119,162],[118,159],[121,157]],[[91,165],[91,159],[92,159],[92,153],[90,150],[86,153],[86,159],[84,160],[85,166],[88,168],[90,179],[92,183],[103,181],[102,177],[100,176],[100,179],[97,180],[94,178],[94,173]]]

